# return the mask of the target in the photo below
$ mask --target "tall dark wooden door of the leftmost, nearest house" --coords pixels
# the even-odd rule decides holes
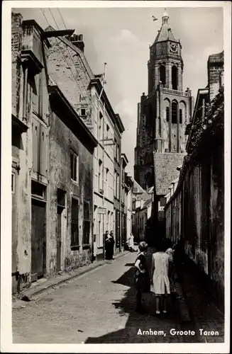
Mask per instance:
[[[45,202],[31,201],[31,281],[43,277],[45,262]]]

